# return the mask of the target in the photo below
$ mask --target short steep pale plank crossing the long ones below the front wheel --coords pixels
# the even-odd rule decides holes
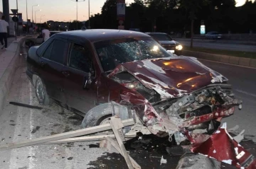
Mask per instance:
[[[110,118],[110,125],[112,127],[112,130],[114,132],[114,136],[117,139],[117,143],[119,144],[119,147],[122,151],[122,156],[124,156],[124,160],[126,161],[128,168],[129,169],[134,169],[133,166],[132,166],[132,162],[129,158],[129,155],[128,155],[125,147],[124,147],[123,139],[120,136],[120,133],[118,132],[119,129],[122,130],[122,127],[124,127],[124,125],[122,124],[121,119],[117,118],[117,117],[111,117]]]

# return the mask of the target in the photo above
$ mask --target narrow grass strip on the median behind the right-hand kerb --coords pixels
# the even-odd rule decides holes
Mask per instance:
[[[191,50],[195,52],[206,52],[210,54],[224,54],[232,57],[247,57],[256,59],[256,52],[242,52],[242,51],[231,51],[231,50],[223,50],[223,49],[208,49],[203,47],[184,47],[185,50]]]

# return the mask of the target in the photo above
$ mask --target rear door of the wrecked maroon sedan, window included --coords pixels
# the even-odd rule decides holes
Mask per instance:
[[[39,59],[38,75],[45,83],[50,98],[61,103],[66,103],[63,83],[67,75],[63,73],[63,63],[67,54],[68,42],[55,37]]]

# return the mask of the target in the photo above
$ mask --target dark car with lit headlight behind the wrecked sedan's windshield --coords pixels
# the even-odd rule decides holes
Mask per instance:
[[[179,42],[176,42],[169,36],[167,33],[146,33],[154,38],[157,42],[160,43],[167,51],[172,52],[177,55],[181,55],[182,45]]]

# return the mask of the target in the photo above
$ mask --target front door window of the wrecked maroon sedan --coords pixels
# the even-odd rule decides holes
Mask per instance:
[[[89,49],[81,45],[73,44],[70,52],[69,66],[89,73],[93,70],[91,58],[92,55]]]

